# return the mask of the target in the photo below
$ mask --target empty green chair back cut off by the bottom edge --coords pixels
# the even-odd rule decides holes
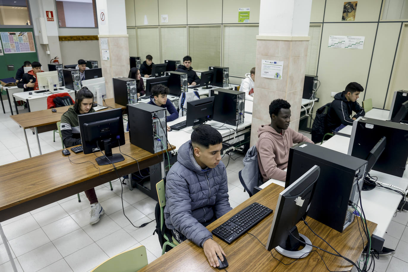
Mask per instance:
[[[92,272],[136,272],[147,264],[146,248],[140,245],[104,261]]]

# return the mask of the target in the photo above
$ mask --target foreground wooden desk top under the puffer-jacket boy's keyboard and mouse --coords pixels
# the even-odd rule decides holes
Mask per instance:
[[[250,199],[244,201],[244,203],[241,203],[232,211],[226,213],[226,215],[220,219],[217,219],[215,222],[211,223],[207,228],[210,231],[213,230],[221,223],[226,221],[229,217],[233,216],[239,210],[242,210],[253,202],[261,203],[268,208],[272,208],[275,212],[277,199],[282,190],[283,188],[276,184],[267,186]],[[262,243],[264,243],[264,245],[266,245],[268,241],[273,215],[274,213],[259,222],[249,231]],[[361,256],[363,243],[361,241],[356,219],[342,233],[337,232],[336,230],[333,230],[332,228],[319,223],[310,217],[307,217],[306,221],[312,230],[328,241],[328,243],[330,243],[340,254],[353,261],[357,261],[357,259]],[[373,233],[377,224],[370,221],[367,221],[367,224],[370,233]],[[334,252],[326,243],[315,236],[304,225],[303,221],[297,224],[297,228],[299,233],[306,235],[306,237],[312,241],[313,245],[330,252]],[[273,256],[286,264],[294,261],[294,259],[282,256],[275,249],[268,252],[266,248],[250,234],[244,234],[236,241],[231,243],[231,245],[224,243],[215,236],[213,239],[222,246],[226,253],[226,258],[229,264],[227,268],[228,271],[327,271],[326,266],[324,265],[322,259],[320,259],[317,252],[311,252],[307,257],[299,259],[291,265],[283,265],[272,257],[271,252],[273,253]],[[364,241],[366,243],[366,239]],[[313,248],[313,250],[315,250],[315,248]],[[320,255],[322,255],[322,258],[330,270],[343,271],[349,270],[352,267],[350,263],[341,257],[335,257],[323,252],[322,250],[317,251]],[[164,267],[166,268],[166,271],[219,271],[218,268],[213,268],[210,266],[202,248],[198,247],[189,240],[177,245],[175,248],[159,257],[149,265],[146,265],[139,271],[161,271]]]

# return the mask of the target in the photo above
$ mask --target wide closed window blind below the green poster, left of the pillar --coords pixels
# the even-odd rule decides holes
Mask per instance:
[[[229,67],[229,75],[244,77],[256,61],[257,26],[224,26],[222,66]]]

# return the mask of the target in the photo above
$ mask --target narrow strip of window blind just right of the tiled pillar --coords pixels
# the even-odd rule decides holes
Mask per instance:
[[[322,33],[321,25],[311,25],[309,27],[309,46],[307,49],[306,75],[317,75],[317,63],[319,61],[320,38]]]

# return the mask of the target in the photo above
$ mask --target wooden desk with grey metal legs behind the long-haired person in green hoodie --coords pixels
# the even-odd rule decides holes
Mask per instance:
[[[25,93],[28,93],[28,92],[25,92]],[[126,106],[116,104],[113,98],[106,99],[105,101],[106,103],[104,102],[104,106],[109,105],[109,107],[122,108],[122,110],[126,108]],[[31,128],[34,130],[35,136],[37,137],[38,150],[40,151],[40,155],[41,155],[42,153],[41,153],[40,139],[38,138],[38,133],[42,133],[42,132],[46,132],[50,130],[56,130],[57,122],[61,121],[62,114],[68,111],[69,107],[71,106],[55,108],[57,110],[56,113],[53,113],[51,109],[47,109],[47,110],[42,110],[42,111],[34,111],[34,112],[22,113],[22,114],[10,116],[10,118],[13,119],[14,122],[16,122],[24,130],[24,136],[26,139],[27,150],[28,150],[28,154],[30,158],[31,158],[30,146],[28,143],[27,133],[25,130],[27,128]],[[108,110],[108,109],[109,108],[105,108],[105,109],[102,109],[101,111]]]

